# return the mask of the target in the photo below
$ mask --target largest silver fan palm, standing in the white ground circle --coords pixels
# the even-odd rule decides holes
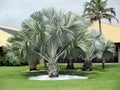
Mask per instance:
[[[83,30],[81,25],[85,20],[72,12],[57,12],[54,8],[35,12],[30,18],[38,24],[39,28],[35,26],[36,30],[39,29],[44,37],[37,53],[48,61],[49,77],[58,77],[57,61],[76,36],[81,33]]]

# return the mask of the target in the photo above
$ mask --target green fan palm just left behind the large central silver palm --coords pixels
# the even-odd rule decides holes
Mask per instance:
[[[38,48],[41,47],[44,37],[40,32],[39,24],[33,19],[25,20],[22,23],[22,29],[21,55],[28,61],[30,70],[36,70],[36,65],[41,58],[36,52],[39,52]]]

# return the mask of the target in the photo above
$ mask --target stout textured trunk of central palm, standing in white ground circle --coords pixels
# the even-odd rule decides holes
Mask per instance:
[[[48,64],[48,75],[49,77],[58,77],[58,65],[56,62]]]

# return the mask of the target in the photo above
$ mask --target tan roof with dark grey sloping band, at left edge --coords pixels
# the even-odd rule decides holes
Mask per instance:
[[[19,31],[16,28],[0,25],[0,46],[5,46],[8,44],[8,38],[12,37]]]

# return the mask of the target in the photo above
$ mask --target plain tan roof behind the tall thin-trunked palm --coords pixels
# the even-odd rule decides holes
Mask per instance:
[[[102,23],[102,33],[106,40],[114,43],[120,43],[120,26],[115,26],[107,23]],[[90,29],[99,31],[99,23],[94,22]]]

